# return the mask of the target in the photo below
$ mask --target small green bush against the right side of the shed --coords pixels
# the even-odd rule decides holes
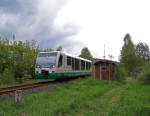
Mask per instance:
[[[127,77],[127,71],[122,64],[118,64],[116,70],[116,79],[117,81],[123,82]]]

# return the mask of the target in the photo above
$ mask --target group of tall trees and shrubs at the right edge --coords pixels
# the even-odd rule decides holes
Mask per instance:
[[[138,77],[140,81],[150,83],[150,50],[146,43],[139,42],[135,46],[131,36],[126,34],[120,62],[128,71],[129,76]]]

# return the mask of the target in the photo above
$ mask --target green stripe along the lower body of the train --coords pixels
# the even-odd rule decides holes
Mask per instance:
[[[43,75],[41,73],[36,73],[36,79],[60,79],[60,78],[67,78],[73,76],[84,76],[90,75],[91,72],[63,72],[63,73],[49,73],[48,75]]]

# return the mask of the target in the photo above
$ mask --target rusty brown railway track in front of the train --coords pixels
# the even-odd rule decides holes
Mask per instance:
[[[0,88],[0,96],[4,94],[9,94],[13,93],[16,90],[30,90],[34,88],[39,88],[39,87],[45,87],[48,86],[47,83],[32,83],[32,84],[26,84],[26,85],[18,85],[18,86],[12,86],[12,87],[7,87],[7,88]]]

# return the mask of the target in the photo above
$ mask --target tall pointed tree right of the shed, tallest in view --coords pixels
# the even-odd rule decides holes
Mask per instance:
[[[124,64],[130,76],[133,76],[132,74],[137,72],[138,57],[130,34],[126,34],[124,37],[124,45],[121,50],[120,62]]]

